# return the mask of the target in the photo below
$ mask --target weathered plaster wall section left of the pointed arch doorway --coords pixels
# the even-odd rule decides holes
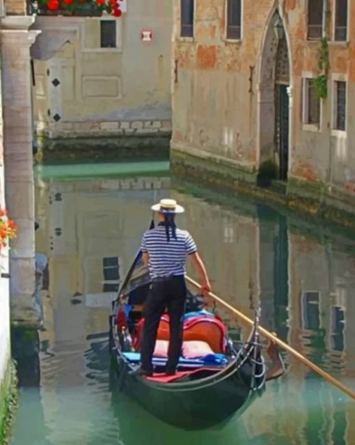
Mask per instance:
[[[271,2],[269,2],[271,3]],[[261,7],[260,19],[265,15]],[[173,83],[173,143],[235,159],[256,162],[256,81],[249,93],[249,66],[262,39],[254,8],[245,2],[248,40],[228,42],[225,2],[196,3],[195,37],[180,38],[180,2],[175,1],[175,50],[178,81]],[[265,17],[266,19],[266,17]],[[265,21],[264,19],[264,21]],[[258,45],[259,43],[259,45]]]

